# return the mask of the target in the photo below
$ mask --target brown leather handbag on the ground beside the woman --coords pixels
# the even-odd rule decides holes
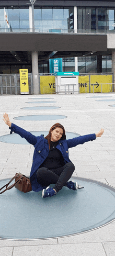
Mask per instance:
[[[8,186],[14,179],[15,183]],[[17,188],[17,190],[24,193],[32,191],[30,179],[26,177],[24,174],[16,173],[16,175],[6,185],[0,188],[1,191],[4,187],[6,187],[5,190],[0,194],[4,193],[6,190],[10,190],[14,186]]]

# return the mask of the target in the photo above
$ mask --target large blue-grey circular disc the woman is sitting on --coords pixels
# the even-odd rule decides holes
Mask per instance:
[[[115,219],[115,188],[78,177],[72,177],[72,180],[84,188],[73,191],[63,187],[55,196],[47,198],[41,197],[42,191],[22,193],[15,187],[2,194],[1,238],[71,236],[99,228]],[[1,180],[0,187],[8,181]]]

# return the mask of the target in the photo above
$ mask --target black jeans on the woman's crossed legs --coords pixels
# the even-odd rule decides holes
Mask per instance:
[[[41,167],[37,171],[37,181],[42,186],[55,184],[53,188],[56,192],[59,192],[59,190],[66,185],[67,181],[70,180],[74,170],[75,166],[72,162],[68,162],[56,170],[49,170],[48,168]]]

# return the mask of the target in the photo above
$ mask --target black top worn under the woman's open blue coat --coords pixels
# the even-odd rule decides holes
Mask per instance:
[[[48,154],[48,157],[44,160],[44,162],[40,165],[39,168],[45,167],[49,170],[57,169],[62,167],[65,162],[62,157],[62,153],[59,149],[56,148],[59,141],[51,141],[50,143],[50,152]]]

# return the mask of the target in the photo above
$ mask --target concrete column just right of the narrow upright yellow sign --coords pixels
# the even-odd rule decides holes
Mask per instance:
[[[33,94],[40,94],[40,80],[38,72],[38,51],[31,52]]]

